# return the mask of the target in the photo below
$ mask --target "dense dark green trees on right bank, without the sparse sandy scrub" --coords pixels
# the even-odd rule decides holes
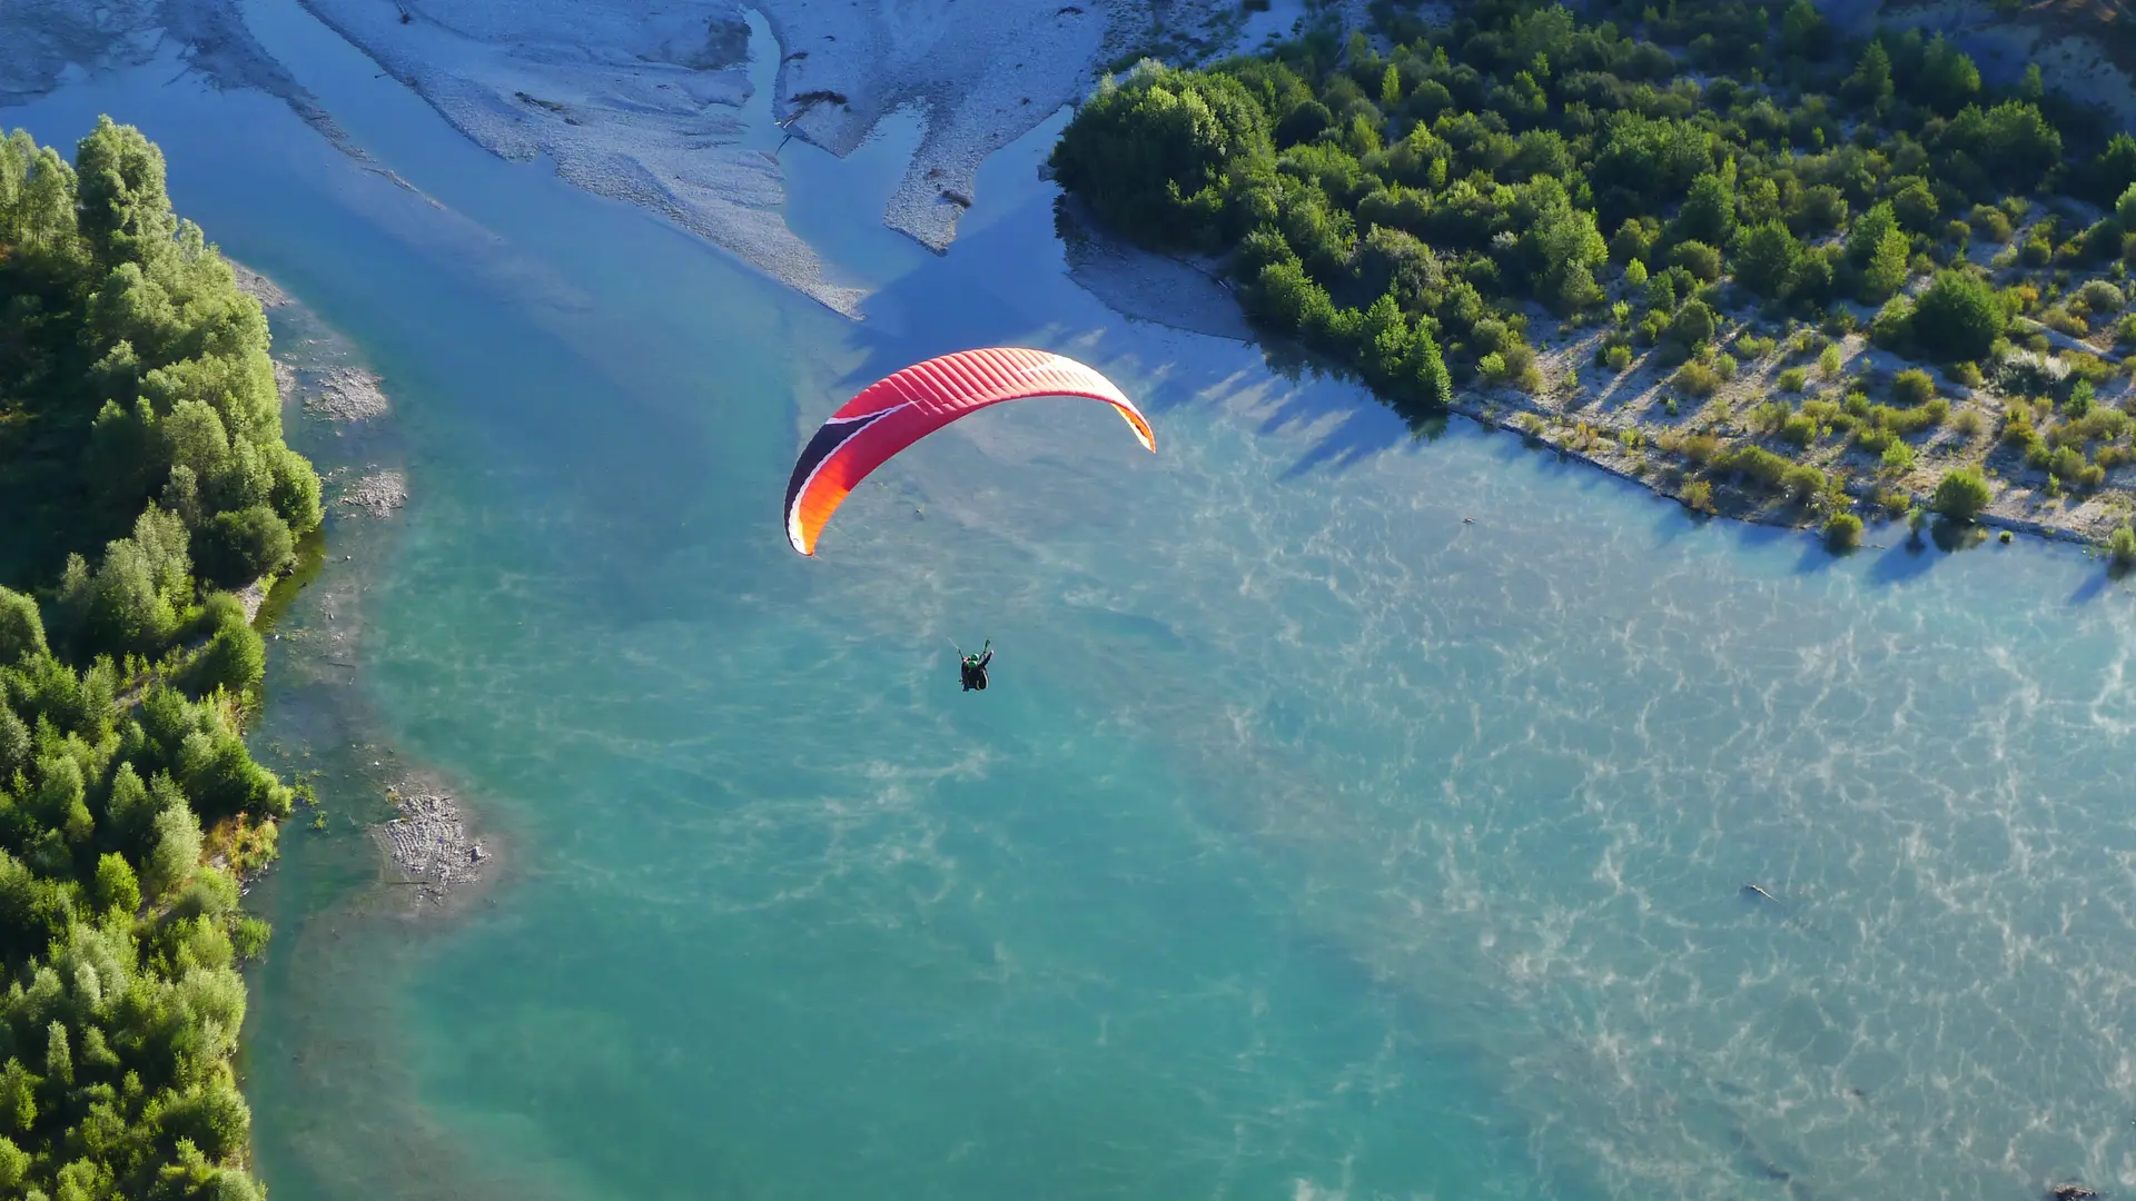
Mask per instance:
[[[1942,36],[1848,43],[1809,0],[1448,24],[1380,0],[1371,30],[1106,77],[1053,169],[1113,231],[1220,256],[1262,329],[1403,408],[1452,378],[1540,389],[1534,310],[1672,361],[1743,312],[1991,359],[2031,299],[1967,246],[2036,194],[2104,216],[2048,222],[2025,263],[2136,259],[2136,139],[2038,71],[1997,90]]]

